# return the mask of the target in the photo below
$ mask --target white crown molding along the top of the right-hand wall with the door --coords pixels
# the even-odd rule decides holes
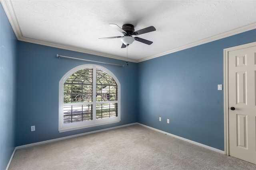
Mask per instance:
[[[163,53],[159,53],[159,54],[156,54],[156,55],[152,55],[150,57],[146,57],[144,59],[140,59],[137,62],[140,63],[142,61],[154,59],[154,58],[161,57],[161,56],[164,56],[164,55],[168,55],[168,54],[171,54],[171,53],[175,53],[175,52],[178,52],[178,51],[181,51],[181,50],[184,50],[184,49],[188,49],[188,48],[191,48],[191,47],[196,47],[198,45],[202,45],[202,44],[205,44],[205,43],[216,41],[218,39],[230,37],[232,35],[243,33],[243,32],[246,32],[246,31],[250,31],[252,29],[256,29],[256,22],[255,23],[251,23],[251,24],[246,25],[246,26],[243,26],[243,27],[240,27],[240,28],[237,28],[237,29],[233,29],[231,31],[227,31],[225,33],[221,33],[221,34],[218,34],[218,35],[214,35],[212,37],[208,37],[206,39],[202,39],[202,40],[196,41],[194,43],[183,45],[181,47],[178,47],[178,48],[175,48],[175,49],[171,49],[171,50],[163,52]]]

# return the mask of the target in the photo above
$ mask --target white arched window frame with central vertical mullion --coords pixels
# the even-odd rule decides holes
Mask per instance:
[[[64,82],[74,73],[79,70],[85,69],[85,68],[93,68],[93,110],[94,113],[96,114],[96,69],[103,70],[104,72],[108,73],[114,80],[116,81],[117,87],[118,87],[118,116],[116,117],[108,117],[105,119],[96,119],[96,115],[93,115],[94,119],[90,121],[80,121],[80,122],[75,122],[75,123],[65,123],[64,124]],[[75,68],[72,68],[69,70],[61,79],[59,82],[59,132],[66,132],[66,131],[72,131],[76,129],[83,129],[87,127],[94,127],[94,126],[99,126],[99,125],[106,125],[110,123],[118,123],[121,120],[121,114],[120,114],[120,92],[121,92],[121,86],[120,82],[116,78],[116,76],[108,69],[96,65],[96,64],[83,64],[80,66],[76,66]],[[111,103],[111,102],[110,102]],[[81,103],[82,104],[82,103]]]

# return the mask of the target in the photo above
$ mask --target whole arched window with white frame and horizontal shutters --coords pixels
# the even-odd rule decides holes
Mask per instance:
[[[120,121],[120,83],[104,67],[85,64],[59,82],[59,131]]]

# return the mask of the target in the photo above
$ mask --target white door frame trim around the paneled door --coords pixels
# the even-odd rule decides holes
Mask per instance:
[[[224,49],[224,152],[229,156],[229,129],[228,129],[228,52],[256,46],[256,42],[238,45]]]

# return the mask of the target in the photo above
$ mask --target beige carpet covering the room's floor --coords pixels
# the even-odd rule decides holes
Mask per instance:
[[[9,170],[256,170],[140,125],[16,150]]]

